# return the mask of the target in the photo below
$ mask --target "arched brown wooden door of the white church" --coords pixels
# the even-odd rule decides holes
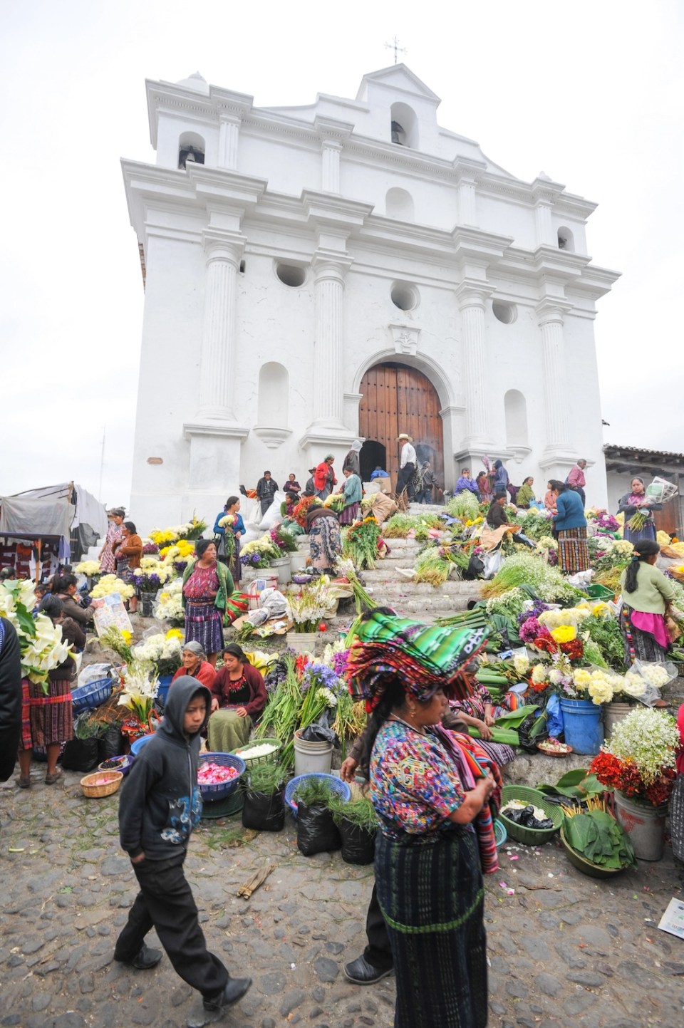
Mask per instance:
[[[419,461],[430,461],[439,484],[444,485],[444,437],[439,416],[441,404],[437,392],[421,371],[405,364],[376,364],[366,371],[361,381],[359,404],[359,435],[368,443],[380,443],[387,453],[387,471],[397,480],[400,432],[413,437]],[[364,443],[361,450],[361,477],[368,481],[370,450],[377,447]],[[367,453],[364,451],[368,451]],[[376,462],[375,462],[376,463]]]

